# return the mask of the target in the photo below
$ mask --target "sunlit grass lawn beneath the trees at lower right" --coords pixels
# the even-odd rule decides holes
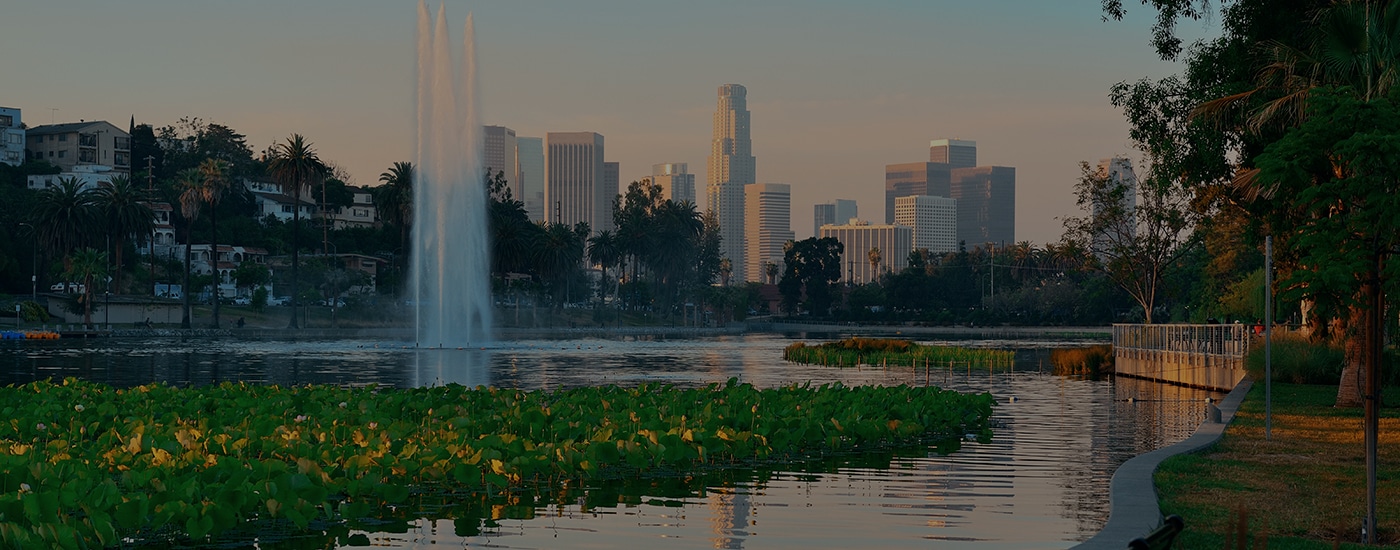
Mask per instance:
[[[1233,549],[1240,516],[1249,532],[1240,549],[1364,547],[1352,544],[1366,514],[1361,409],[1333,409],[1336,386],[1275,382],[1273,393],[1271,441],[1264,385],[1254,383],[1217,445],[1158,469],[1162,514],[1186,519],[1177,547]],[[1378,448],[1378,540],[1400,547],[1400,409],[1382,409]]]

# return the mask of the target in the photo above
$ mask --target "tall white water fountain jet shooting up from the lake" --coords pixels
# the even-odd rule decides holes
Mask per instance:
[[[475,29],[468,15],[461,60],[454,63],[445,15],[440,6],[434,24],[419,1],[409,294],[417,344],[455,348],[490,340],[491,284]]]

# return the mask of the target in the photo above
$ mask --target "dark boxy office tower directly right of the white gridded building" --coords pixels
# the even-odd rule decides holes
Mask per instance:
[[[958,200],[958,241],[969,249],[988,242],[1016,242],[1015,168],[953,168],[952,179],[952,197]]]

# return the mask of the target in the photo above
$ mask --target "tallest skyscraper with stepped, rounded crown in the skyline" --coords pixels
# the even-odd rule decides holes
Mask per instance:
[[[755,182],[753,143],[749,140],[748,90],[720,87],[714,134],[706,174],[706,209],[720,220],[720,256],[728,258],[736,277],[743,277],[743,186]]]

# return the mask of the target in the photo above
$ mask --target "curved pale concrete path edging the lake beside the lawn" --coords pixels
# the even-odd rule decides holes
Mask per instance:
[[[1245,400],[1250,386],[1252,382],[1246,378],[1225,396],[1219,403],[1219,423],[1207,418],[1186,441],[1134,456],[1119,466],[1109,488],[1109,522],[1103,525],[1099,535],[1074,549],[1123,550],[1133,539],[1162,525],[1162,509],[1156,507],[1156,487],[1152,483],[1156,466],[1170,456],[1196,452],[1219,441],[1221,435],[1225,435],[1225,427],[1235,418],[1235,411],[1239,410],[1239,403]],[[1190,521],[1186,526],[1190,528]]]

